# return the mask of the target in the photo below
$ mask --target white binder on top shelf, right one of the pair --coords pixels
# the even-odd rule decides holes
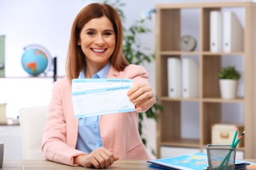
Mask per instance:
[[[223,12],[223,51],[242,52],[244,50],[244,28],[236,14]]]

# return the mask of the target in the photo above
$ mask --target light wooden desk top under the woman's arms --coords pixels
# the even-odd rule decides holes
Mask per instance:
[[[24,168],[23,168],[24,167]],[[49,170],[49,169],[91,169],[85,167],[72,167],[47,160],[4,160],[1,170]],[[146,160],[118,160],[107,169],[151,169]]]

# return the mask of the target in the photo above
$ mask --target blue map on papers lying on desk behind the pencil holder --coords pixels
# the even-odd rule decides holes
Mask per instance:
[[[202,170],[208,169],[207,154],[195,152],[171,158],[147,161],[151,163],[152,169],[175,169],[175,170]],[[246,165],[251,164],[247,161],[236,160],[235,169],[244,169]],[[254,164],[254,163],[253,163]]]

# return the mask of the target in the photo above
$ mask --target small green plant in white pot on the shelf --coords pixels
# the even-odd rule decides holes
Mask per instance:
[[[240,76],[240,73],[234,66],[227,66],[221,69],[221,73],[219,73],[219,84],[221,88],[221,97],[223,99],[236,98]]]

